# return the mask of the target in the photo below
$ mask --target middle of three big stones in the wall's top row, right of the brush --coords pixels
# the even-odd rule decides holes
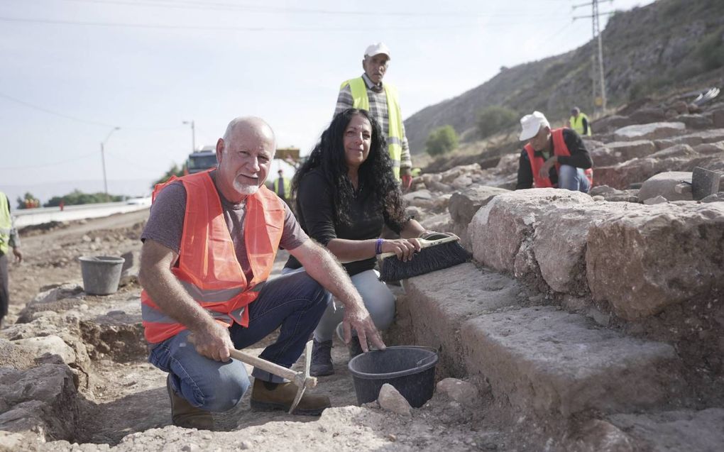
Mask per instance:
[[[572,295],[586,293],[586,239],[589,226],[627,204],[585,203],[544,212],[536,223],[533,254],[551,289]]]

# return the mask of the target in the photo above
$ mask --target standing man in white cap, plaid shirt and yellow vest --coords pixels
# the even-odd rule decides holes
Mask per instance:
[[[382,127],[395,178],[400,180],[403,190],[406,190],[412,184],[412,159],[397,89],[388,82],[382,83],[389,62],[390,49],[384,43],[369,46],[362,60],[364,73],[361,77],[342,83],[334,116],[348,108],[358,108],[372,114]]]

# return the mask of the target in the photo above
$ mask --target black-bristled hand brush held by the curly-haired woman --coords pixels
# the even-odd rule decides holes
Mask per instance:
[[[471,258],[470,252],[460,245],[460,237],[455,234],[437,240],[418,240],[421,250],[416,252],[412,260],[408,262],[397,259],[394,252],[379,255],[382,259],[379,281],[400,281],[452,267],[452,265],[467,262]]]

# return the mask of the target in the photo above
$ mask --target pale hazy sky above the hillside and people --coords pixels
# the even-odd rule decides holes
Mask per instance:
[[[442,4],[445,3],[445,6]],[[591,39],[585,0],[1,0],[0,189],[159,178],[214,145],[235,116],[261,116],[303,153],[340,83],[384,41],[385,80],[406,118],[489,80],[501,66]],[[615,0],[601,10],[647,0]],[[603,20],[605,24],[605,19]],[[62,195],[63,193],[59,193]]]

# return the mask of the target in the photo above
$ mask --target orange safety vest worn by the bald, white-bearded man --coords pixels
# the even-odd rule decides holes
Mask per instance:
[[[219,323],[249,325],[246,305],[253,302],[271,273],[284,229],[284,202],[264,186],[246,198],[244,242],[253,278],[246,276],[236,258],[221,200],[209,176],[203,171],[180,178],[172,177],[156,185],[156,194],[175,179],[186,189],[181,249],[172,273],[191,297]],[[145,290],[141,291],[141,315],[146,341],[156,344],[186,327],[166,315]]]

